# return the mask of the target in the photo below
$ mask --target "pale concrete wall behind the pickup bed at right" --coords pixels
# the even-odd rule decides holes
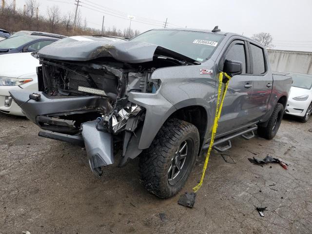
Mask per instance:
[[[273,71],[312,74],[312,52],[268,50]]]

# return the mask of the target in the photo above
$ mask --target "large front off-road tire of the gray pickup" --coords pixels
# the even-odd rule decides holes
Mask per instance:
[[[173,167],[173,158],[176,157],[184,142],[188,142],[187,147],[190,148],[189,153],[186,151],[188,155],[185,158],[188,158],[184,159],[184,163],[186,160],[188,163],[183,163],[185,171],[182,173],[181,170],[181,178],[179,178],[180,176],[175,178],[175,180],[178,179],[176,184],[170,184],[174,180],[172,179],[173,175],[171,173],[169,175],[169,170]],[[165,122],[151,146],[140,156],[139,171],[144,187],[160,198],[176,195],[184,186],[193,169],[198,150],[199,133],[193,124],[179,119],[170,119]],[[171,181],[169,181],[170,177]]]

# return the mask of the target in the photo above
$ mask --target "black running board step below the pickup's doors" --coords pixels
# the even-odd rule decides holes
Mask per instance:
[[[252,127],[249,127],[247,129],[244,129],[243,131],[240,131],[240,132],[236,132],[234,134],[231,134],[229,136],[226,136],[226,137],[221,137],[221,138],[218,138],[215,140],[214,142],[214,146],[213,148],[216,150],[216,151],[219,151],[219,152],[224,152],[228,149],[231,149],[232,148],[232,144],[231,144],[231,139],[233,139],[234,137],[243,137],[245,139],[251,139],[252,137],[254,137],[254,131],[258,129],[258,126],[257,125],[254,125]],[[226,143],[227,142],[227,145],[224,145],[224,146],[217,146],[217,145],[220,145],[222,143]],[[209,148],[209,143],[208,144],[205,144],[203,146],[203,149],[207,149]]]

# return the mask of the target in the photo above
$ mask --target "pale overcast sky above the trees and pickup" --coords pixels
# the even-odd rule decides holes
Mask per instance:
[[[10,2],[11,0],[7,0]],[[22,8],[25,0],[16,0]],[[39,14],[59,5],[62,13],[75,10],[75,0],[38,0]],[[168,18],[168,27],[213,29],[244,34],[268,32],[274,49],[312,51],[312,0],[80,0],[82,19],[89,27],[129,27],[140,32],[159,28]],[[88,9],[92,8],[94,10]],[[112,16],[115,15],[115,16]],[[121,18],[118,18],[119,16]],[[146,18],[146,19],[145,19]],[[144,21],[136,22],[136,21]],[[149,24],[147,24],[149,23]]]

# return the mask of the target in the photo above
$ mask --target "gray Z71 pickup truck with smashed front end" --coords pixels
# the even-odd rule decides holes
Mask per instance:
[[[273,74],[266,49],[244,36],[159,29],[129,41],[66,38],[36,57],[39,92],[11,91],[39,136],[86,148],[90,167],[139,156],[143,185],[167,198],[185,184],[210,142],[218,74],[232,79],[214,147],[230,139],[275,136],[292,78]]]

